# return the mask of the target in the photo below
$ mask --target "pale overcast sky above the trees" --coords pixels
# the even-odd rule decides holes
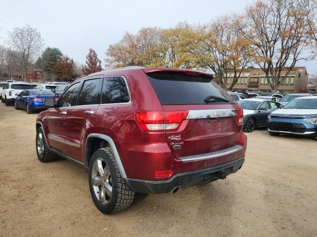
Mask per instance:
[[[206,23],[226,13],[241,13],[252,0],[0,0],[0,29],[26,24],[39,29],[45,46],[57,47],[85,63],[89,48],[103,61],[109,44],[144,26],[173,27],[180,21]],[[3,39],[2,39],[3,40]],[[302,62],[316,73],[316,61]]]

